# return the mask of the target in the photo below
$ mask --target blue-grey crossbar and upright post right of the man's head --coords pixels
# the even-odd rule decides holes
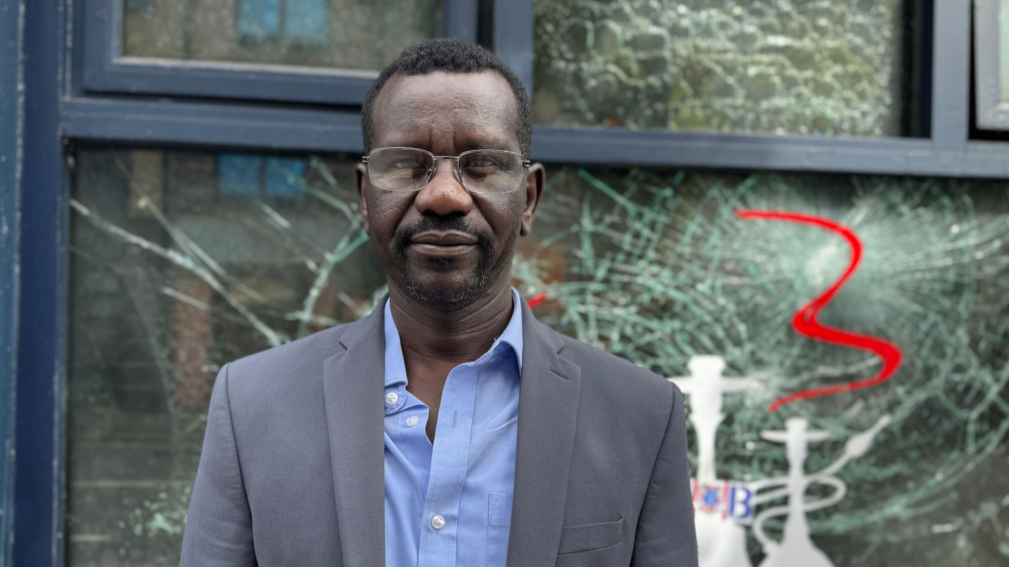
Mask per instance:
[[[537,125],[541,161],[1009,178],[1009,144],[969,140],[969,6],[935,0],[928,138],[771,136]]]

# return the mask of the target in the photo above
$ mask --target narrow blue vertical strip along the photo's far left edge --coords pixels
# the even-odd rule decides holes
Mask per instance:
[[[14,533],[23,5],[23,0],[0,4],[0,567],[11,565]]]

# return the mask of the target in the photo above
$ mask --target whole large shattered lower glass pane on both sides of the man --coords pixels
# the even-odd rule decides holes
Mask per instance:
[[[380,297],[353,162],[78,152],[72,565],[177,564],[217,369]],[[1009,561],[1009,184],[549,169],[515,285],[681,385],[698,529],[734,565]]]

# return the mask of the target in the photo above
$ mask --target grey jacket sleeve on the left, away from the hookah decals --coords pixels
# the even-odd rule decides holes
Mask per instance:
[[[180,567],[253,567],[249,511],[231,422],[228,366],[214,381],[203,453],[190,496]]]

